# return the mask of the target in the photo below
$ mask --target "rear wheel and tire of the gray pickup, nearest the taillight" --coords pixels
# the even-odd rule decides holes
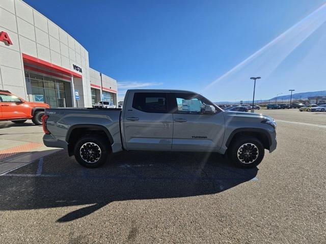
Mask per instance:
[[[76,142],[74,148],[75,159],[86,168],[97,168],[103,165],[110,153],[110,141],[101,135],[86,135]]]

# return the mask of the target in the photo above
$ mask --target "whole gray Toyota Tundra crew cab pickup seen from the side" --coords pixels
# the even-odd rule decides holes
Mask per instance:
[[[43,130],[46,146],[67,149],[88,168],[121,150],[216,152],[250,168],[277,144],[273,118],[223,111],[186,90],[128,90],[122,109],[46,109]]]

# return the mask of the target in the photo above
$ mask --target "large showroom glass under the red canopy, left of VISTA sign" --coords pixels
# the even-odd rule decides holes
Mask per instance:
[[[43,102],[51,108],[66,107],[66,88],[69,82],[25,72],[26,82],[31,83],[33,102]]]

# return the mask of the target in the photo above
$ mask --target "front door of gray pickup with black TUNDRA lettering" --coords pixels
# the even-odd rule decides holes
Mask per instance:
[[[223,143],[225,120],[216,110],[205,114],[205,105],[213,105],[198,94],[176,93],[173,112],[173,151],[216,151]],[[170,101],[170,100],[169,100]]]

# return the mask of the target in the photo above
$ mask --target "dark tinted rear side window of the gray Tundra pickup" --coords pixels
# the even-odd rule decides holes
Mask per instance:
[[[148,113],[167,113],[166,93],[135,93],[132,107]]]

